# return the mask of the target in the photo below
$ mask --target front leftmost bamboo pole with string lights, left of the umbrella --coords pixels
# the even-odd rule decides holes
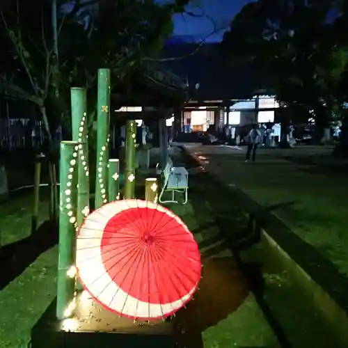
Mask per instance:
[[[77,230],[77,152],[76,141],[61,142],[60,206],[56,317],[71,315],[74,300],[74,263]]]

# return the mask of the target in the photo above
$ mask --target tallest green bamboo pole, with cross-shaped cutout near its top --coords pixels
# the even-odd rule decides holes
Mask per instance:
[[[97,175],[95,175],[95,209],[107,200],[110,125],[110,70],[98,70],[97,101]]]

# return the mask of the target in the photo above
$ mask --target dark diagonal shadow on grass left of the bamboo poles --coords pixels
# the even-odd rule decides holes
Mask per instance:
[[[0,248],[0,290],[3,290],[42,253],[57,243],[58,228],[56,224],[46,221],[29,237]]]

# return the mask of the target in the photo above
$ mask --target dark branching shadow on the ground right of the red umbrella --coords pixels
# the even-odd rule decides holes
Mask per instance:
[[[197,166],[196,162],[192,163],[190,159],[187,163],[189,167]],[[198,216],[203,214],[201,201],[209,202],[210,214],[213,215],[211,225],[218,228],[219,235],[209,237],[199,244],[200,248],[212,246],[202,255],[204,265],[206,262],[212,264],[207,269],[203,268],[205,276],[200,283],[200,290],[195,294],[197,300],[189,303],[186,313],[181,311],[179,313],[184,346],[203,347],[201,333],[237,310],[249,292],[253,292],[281,347],[289,347],[283,330],[264,301],[261,264],[246,264],[242,262],[239,253],[260,241],[261,228],[258,223],[262,220],[260,216],[293,205],[294,202],[262,207],[249,214],[247,219],[240,208],[237,195],[230,189],[226,190],[209,173],[199,170],[190,176],[190,197],[193,210]],[[234,258],[211,258],[226,249],[232,251]],[[225,272],[224,276],[221,276],[221,271]]]

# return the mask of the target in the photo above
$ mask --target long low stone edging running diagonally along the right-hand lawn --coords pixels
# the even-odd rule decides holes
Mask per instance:
[[[187,152],[189,156],[195,159],[200,166],[205,168],[205,163],[195,154],[190,152],[187,148],[182,147],[182,149],[184,152]],[[237,191],[240,196],[244,196],[244,199],[248,197],[246,193],[240,189],[237,189],[236,187],[233,188],[233,191]],[[251,198],[248,198],[248,200],[253,201]],[[253,204],[256,205],[257,203],[253,201]],[[248,214],[250,213],[251,212],[248,212]],[[278,220],[276,216],[274,216],[274,219]],[[337,269],[333,271],[332,267],[334,266],[331,264],[331,262],[324,262],[326,266],[328,263],[331,264],[331,267],[327,268],[321,267],[321,264],[317,264],[317,262],[310,260],[308,255],[307,258],[299,258],[299,260],[296,260],[294,253],[291,251],[296,250],[296,248],[298,250],[299,246],[306,246],[306,248],[303,250],[303,253],[306,253],[306,249],[308,248],[312,248],[314,251],[315,249],[313,246],[310,246],[300,239],[300,237],[296,236],[294,232],[283,225],[283,223],[280,221],[278,225],[283,225],[287,230],[289,230],[287,232],[292,234],[293,238],[290,238],[292,240],[290,241],[289,245],[285,244],[285,240],[281,240],[279,230],[276,232],[276,230],[271,228],[276,226],[265,226],[267,223],[262,221],[262,219],[258,219],[258,222],[261,223],[262,226],[262,239],[264,239],[264,242],[268,244],[271,250],[276,251],[276,257],[278,258],[279,262],[281,262],[282,267],[286,268],[287,271],[292,274],[294,279],[302,285],[310,299],[313,300],[315,308],[317,308],[318,312],[322,314],[322,317],[326,321],[327,325],[331,328],[333,333],[340,338],[340,341],[342,341],[344,345],[348,347],[348,282],[346,284],[345,281],[340,281],[339,284],[335,284],[335,282],[329,281],[328,283],[324,284],[324,282],[320,280],[326,278],[326,276],[331,279],[335,276],[340,277],[340,279],[343,278],[343,276],[338,273]],[[277,227],[279,228],[280,226]],[[315,261],[317,261],[319,258],[324,260],[324,257],[321,255],[318,257],[318,255],[319,252],[315,251]],[[313,269],[315,268],[317,271],[313,272]],[[318,271],[321,273],[321,277],[318,277]],[[331,287],[329,287],[330,285]],[[338,287],[338,289],[332,289],[332,287]]]

